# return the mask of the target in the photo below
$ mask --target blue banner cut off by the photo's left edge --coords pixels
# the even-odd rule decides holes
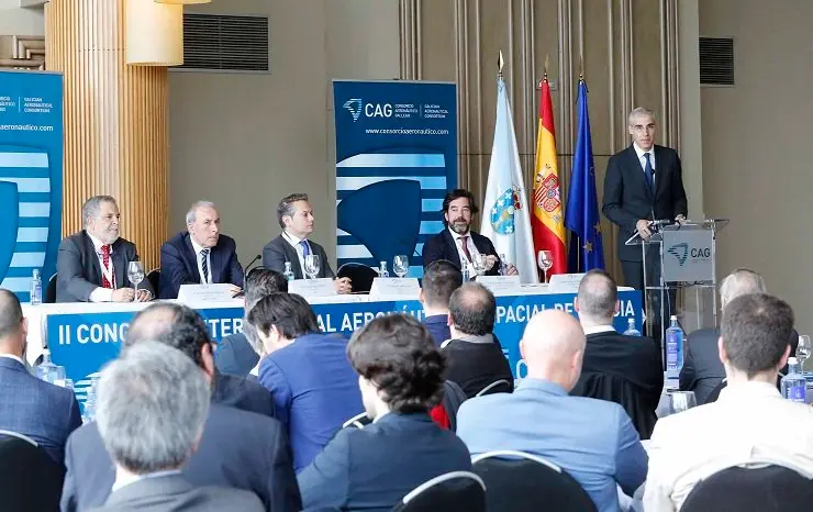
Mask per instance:
[[[63,76],[0,71],[0,287],[29,300],[56,271],[63,210]]]

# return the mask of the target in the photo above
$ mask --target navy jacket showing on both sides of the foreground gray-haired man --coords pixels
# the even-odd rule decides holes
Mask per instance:
[[[65,464],[62,511],[102,505],[115,469],[94,422],[70,436]],[[270,418],[212,403],[198,450],[182,470],[192,486],[245,489],[256,493],[266,510],[301,510],[288,437]]]

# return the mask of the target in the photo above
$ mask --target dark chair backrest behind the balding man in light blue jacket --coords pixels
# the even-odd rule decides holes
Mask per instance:
[[[542,457],[513,450],[488,452],[472,460],[486,482],[489,512],[595,512],[578,481]]]

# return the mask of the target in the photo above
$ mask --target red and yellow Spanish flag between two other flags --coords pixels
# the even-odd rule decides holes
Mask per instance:
[[[565,215],[561,211],[561,183],[556,164],[556,131],[554,103],[547,75],[542,79],[539,129],[536,135],[536,174],[534,176],[533,215],[531,230],[534,251],[550,251],[554,266],[548,276],[567,272],[565,254]]]

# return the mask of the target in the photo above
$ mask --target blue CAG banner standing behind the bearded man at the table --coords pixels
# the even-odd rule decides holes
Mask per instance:
[[[454,84],[334,80],[336,256],[392,270],[410,257],[421,277],[423,243],[443,230],[441,205],[457,187]]]

